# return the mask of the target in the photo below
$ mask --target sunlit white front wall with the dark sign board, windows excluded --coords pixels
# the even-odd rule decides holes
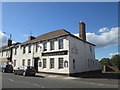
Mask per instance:
[[[63,49],[59,49],[58,40],[63,39]],[[69,66],[65,65],[65,62],[69,63],[69,41],[67,36],[58,37],[54,40],[54,50],[50,50],[50,40],[45,40],[38,43],[38,50],[36,52],[36,44],[31,45],[31,53],[29,53],[29,45],[25,46],[25,53],[23,54],[23,46],[19,45],[17,48],[17,54],[15,55],[15,48],[13,48],[13,66],[16,61],[15,67],[22,66],[22,61],[25,60],[25,66],[28,66],[28,60],[30,59],[30,66],[34,66],[35,59],[38,58],[38,72],[50,72],[50,73],[69,73]],[[43,50],[43,43],[47,42],[47,51]],[[60,55],[61,51],[66,51],[67,54]],[[49,55],[52,52],[57,52],[57,55]],[[42,53],[49,53],[42,55]],[[50,68],[50,59],[54,58],[54,68]],[[63,68],[59,69],[59,58],[63,58]],[[43,59],[46,59],[46,68],[43,68]],[[40,66],[39,62],[42,63]]]

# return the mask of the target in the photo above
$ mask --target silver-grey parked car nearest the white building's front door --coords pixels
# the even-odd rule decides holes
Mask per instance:
[[[23,76],[27,76],[27,75],[35,76],[36,70],[32,66],[20,66],[20,67],[14,68],[14,74],[23,75]]]

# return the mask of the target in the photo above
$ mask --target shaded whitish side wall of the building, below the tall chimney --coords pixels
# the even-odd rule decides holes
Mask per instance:
[[[99,64],[98,61],[95,60],[95,50],[94,46],[92,46],[92,53],[90,52],[90,45],[83,41],[80,41],[74,37],[69,36],[69,65],[70,65],[70,73],[79,73],[93,70],[100,70],[98,66],[88,67],[88,59],[92,59],[96,64]],[[73,59],[75,60],[75,69],[73,69]],[[90,62],[91,64],[91,62]]]

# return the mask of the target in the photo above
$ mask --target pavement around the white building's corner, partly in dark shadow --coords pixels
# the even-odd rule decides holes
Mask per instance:
[[[97,76],[95,74],[97,74]],[[47,78],[68,79],[68,80],[84,81],[88,83],[90,82],[90,83],[97,83],[97,84],[109,84],[109,85],[120,84],[120,79],[117,79],[116,75],[113,75],[113,74],[106,75],[106,73],[99,73],[99,72],[82,73],[82,74],[78,74],[77,76],[71,76],[71,77],[65,76],[65,75],[54,75],[54,74],[46,74],[46,73],[37,73],[36,75],[47,77]]]

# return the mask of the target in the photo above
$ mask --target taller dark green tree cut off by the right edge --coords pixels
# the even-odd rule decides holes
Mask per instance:
[[[111,64],[120,70],[120,54],[112,56]]]

